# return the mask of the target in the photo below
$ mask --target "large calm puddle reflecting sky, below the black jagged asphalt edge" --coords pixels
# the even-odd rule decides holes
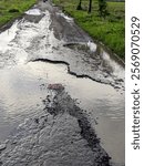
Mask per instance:
[[[4,139],[27,117],[39,114],[50,83],[62,83],[94,125],[102,146],[113,162],[124,163],[124,95],[110,85],[76,79],[63,64],[30,62],[0,70],[0,139]],[[93,121],[92,120],[92,121]]]

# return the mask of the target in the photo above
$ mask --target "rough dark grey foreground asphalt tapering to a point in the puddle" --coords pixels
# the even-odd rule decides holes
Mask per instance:
[[[54,86],[54,87],[53,87]],[[0,151],[2,166],[110,166],[89,117],[61,85],[49,85],[41,116],[25,120]]]

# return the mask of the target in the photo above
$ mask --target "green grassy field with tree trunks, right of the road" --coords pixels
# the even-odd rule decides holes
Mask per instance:
[[[121,59],[125,56],[125,3],[107,2],[109,15],[99,17],[97,0],[93,0],[92,13],[88,13],[89,0],[82,0],[83,10],[75,10],[79,0],[53,0],[65,13],[75,18],[75,22],[94,40],[103,42]]]

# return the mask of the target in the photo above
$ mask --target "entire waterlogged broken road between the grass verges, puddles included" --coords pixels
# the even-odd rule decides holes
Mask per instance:
[[[124,165],[124,69],[50,2],[0,33],[0,155],[4,166]]]

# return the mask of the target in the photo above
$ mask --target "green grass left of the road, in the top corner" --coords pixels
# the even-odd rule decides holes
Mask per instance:
[[[0,0],[0,27],[19,17],[37,0]]]

